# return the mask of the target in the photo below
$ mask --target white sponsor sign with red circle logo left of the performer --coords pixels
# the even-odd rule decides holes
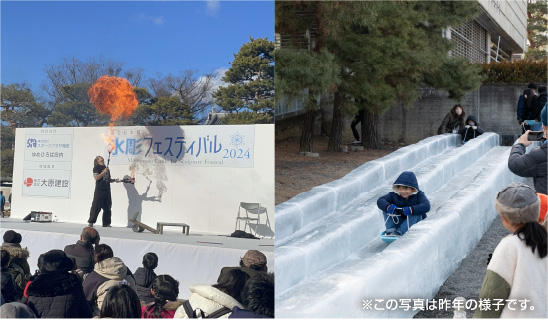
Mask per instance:
[[[70,197],[72,128],[27,129],[23,196]]]

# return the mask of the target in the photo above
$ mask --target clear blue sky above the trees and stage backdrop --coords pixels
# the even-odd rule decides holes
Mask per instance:
[[[274,1],[0,2],[1,81],[35,94],[44,68],[104,57],[146,77],[230,67],[253,38],[274,41]]]

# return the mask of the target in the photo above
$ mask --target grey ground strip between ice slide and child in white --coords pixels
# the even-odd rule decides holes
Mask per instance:
[[[533,187],[533,180],[527,179],[525,184]],[[476,248],[461,262],[460,267],[440,287],[435,299],[447,299],[453,301],[456,297],[462,296],[466,299],[479,298],[483,277],[487,270],[487,257],[493,253],[500,240],[509,235],[510,232],[502,226],[497,217],[489,230],[483,235]],[[472,318],[474,313],[466,311],[466,317]],[[453,311],[435,310],[420,311],[414,318],[452,318]]]

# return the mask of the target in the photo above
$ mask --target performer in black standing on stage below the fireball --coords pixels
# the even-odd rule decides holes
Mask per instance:
[[[110,177],[110,171],[105,166],[105,159],[101,156],[93,160],[93,178],[95,179],[95,192],[89,212],[88,226],[92,227],[101,209],[103,209],[103,227],[110,227],[112,198],[110,196],[110,183],[118,182]]]

